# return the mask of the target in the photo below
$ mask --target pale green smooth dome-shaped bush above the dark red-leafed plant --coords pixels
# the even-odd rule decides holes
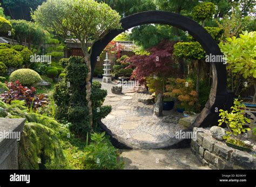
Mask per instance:
[[[30,87],[35,86],[42,78],[33,70],[19,69],[11,73],[9,80],[13,82],[19,80],[23,86]]]

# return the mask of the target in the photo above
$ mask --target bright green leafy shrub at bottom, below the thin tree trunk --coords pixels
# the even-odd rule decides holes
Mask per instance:
[[[109,140],[102,134],[93,133],[92,143],[84,150],[85,165],[87,169],[122,169],[123,162],[118,160],[118,149],[114,148]]]

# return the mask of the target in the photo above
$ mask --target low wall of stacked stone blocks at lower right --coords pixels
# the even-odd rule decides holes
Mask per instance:
[[[231,149],[198,128],[193,131],[197,137],[191,140],[191,150],[204,165],[212,169],[256,169],[255,156]]]

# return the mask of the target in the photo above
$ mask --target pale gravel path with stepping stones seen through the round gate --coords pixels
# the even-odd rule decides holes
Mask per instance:
[[[102,82],[101,79],[93,80]],[[153,115],[153,105],[138,102],[138,98],[147,97],[149,94],[136,93],[136,87],[123,87],[123,94],[114,95],[111,87],[116,84],[102,82],[102,89],[107,90],[103,105],[112,106],[112,112],[102,122],[116,136],[132,143],[146,145],[169,141],[176,132],[184,129],[178,124],[183,114],[170,110],[164,111],[164,116],[157,117]]]

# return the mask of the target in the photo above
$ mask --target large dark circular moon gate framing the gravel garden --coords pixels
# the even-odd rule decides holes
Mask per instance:
[[[135,13],[121,19],[123,29],[112,30],[102,39],[97,41],[92,47],[91,66],[92,72],[95,69],[97,57],[118,34],[131,29],[134,26],[143,24],[166,24],[175,26],[193,36],[203,47],[206,54],[222,55],[218,44],[201,25],[194,20],[167,11],[145,11]],[[210,63],[212,69],[212,87],[209,99],[205,108],[198,115],[197,119],[184,131],[191,131],[193,127],[209,127],[217,124],[219,109],[229,110],[233,102],[233,94],[227,92],[226,65],[220,62]],[[93,73],[92,73],[93,74]],[[180,139],[170,140],[170,144],[181,142]],[[184,142],[184,141],[183,141]]]

